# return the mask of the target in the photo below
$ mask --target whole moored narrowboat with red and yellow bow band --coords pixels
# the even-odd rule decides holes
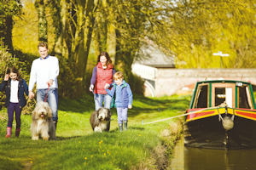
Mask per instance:
[[[211,149],[256,147],[256,105],[250,82],[196,82],[186,112],[186,146]]]

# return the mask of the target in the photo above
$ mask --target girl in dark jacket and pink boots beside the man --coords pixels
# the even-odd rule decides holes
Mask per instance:
[[[14,112],[16,120],[15,136],[20,136],[20,114],[22,108],[26,105],[25,95],[28,95],[28,87],[26,81],[20,78],[19,71],[15,68],[9,68],[4,77],[3,82],[0,84],[0,91],[6,94],[5,106],[8,111],[8,124],[7,133],[5,138],[10,138],[12,133]]]

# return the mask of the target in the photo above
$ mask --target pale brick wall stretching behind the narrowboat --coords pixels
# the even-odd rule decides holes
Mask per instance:
[[[195,82],[239,80],[256,85],[256,69],[156,69],[154,95],[172,95],[191,91]]]

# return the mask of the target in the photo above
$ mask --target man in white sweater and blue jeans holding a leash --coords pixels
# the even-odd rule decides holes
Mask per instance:
[[[40,57],[34,59],[29,79],[29,98],[32,99],[34,94],[32,89],[37,83],[37,102],[46,101],[52,110],[52,119],[57,127],[58,122],[58,82],[59,61],[56,57],[48,54],[48,45],[45,42],[38,44]]]

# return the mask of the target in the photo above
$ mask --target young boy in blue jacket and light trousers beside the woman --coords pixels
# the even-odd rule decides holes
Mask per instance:
[[[106,91],[108,92],[108,95],[112,97],[112,103],[116,107],[119,131],[122,132],[123,123],[124,130],[127,130],[127,111],[132,107],[132,93],[129,84],[125,82],[121,71],[118,71],[113,75],[113,80],[114,82],[110,86],[110,88],[112,87],[111,90],[106,89]],[[108,88],[108,84],[106,84],[105,88]]]

